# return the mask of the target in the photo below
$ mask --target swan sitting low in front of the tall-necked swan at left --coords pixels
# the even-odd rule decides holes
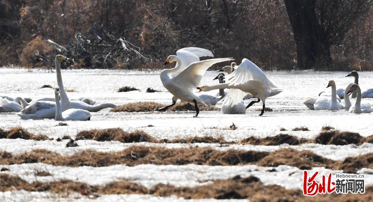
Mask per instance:
[[[54,89],[55,99],[58,100],[59,88]],[[68,109],[62,112],[61,104],[59,101],[56,102],[56,121],[88,121],[91,120],[91,114],[87,110],[83,109]]]

